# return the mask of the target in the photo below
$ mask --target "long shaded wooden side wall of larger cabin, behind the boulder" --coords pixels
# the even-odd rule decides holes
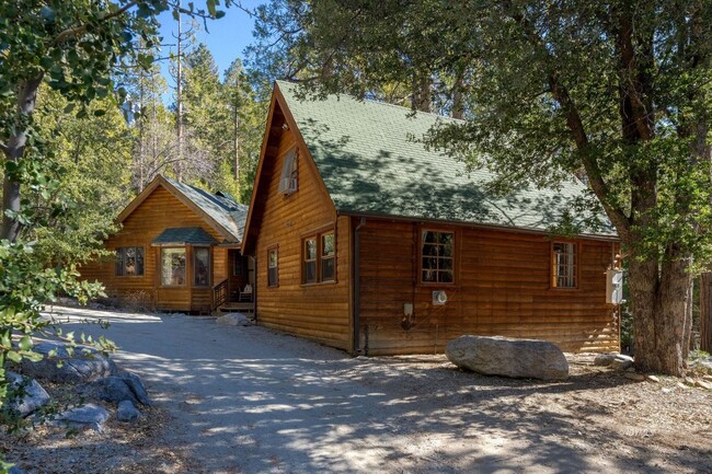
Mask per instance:
[[[369,355],[440,352],[463,334],[546,339],[565,351],[619,349],[612,307],[605,302],[604,273],[615,244],[578,240],[578,288],[555,289],[547,236],[424,229],[455,230],[455,285],[420,284],[418,224],[369,219],[359,230],[359,337]],[[448,301],[434,305],[433,290],[440,289]],[[414,305],[410,320],[404,303]]]

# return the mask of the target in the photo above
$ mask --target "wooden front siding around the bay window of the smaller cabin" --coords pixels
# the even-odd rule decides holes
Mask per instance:
[[[182,227],[202,227],[216,241],[221,242],[223,239],[175,196],[162,186],[158,186],[124,220],[122,230],[108,238],[105,244],[108,250],[142,246],[143,276],[117,277],[114,273],[113,258],[107,258],[103,262],[84,265],[80,269],[82,278],[103,282],[110,297],[124,302],[138,302],[172,311],[209,311],[211,289],[191,288],[193,258],[190,250],[186,254],[187,285],[184,287],[161,287],[160,285],[158,271],[160,248],[152,247],[151,242],[164,229]],[[215,285],[227,278],[227,250],[214,246],[211,254],[211,285]]]

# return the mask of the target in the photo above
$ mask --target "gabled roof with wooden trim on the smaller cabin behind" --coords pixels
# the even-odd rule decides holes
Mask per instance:
[[[248,215],[248,206],[238,204],[223,193],[210,194],[205,189],[181,183],[175,180],[156,176],[151,183],[138,195],[116,218],[123,222],[130,216],[154,190],[163,187],[181,203],[186,205],[196,215],[200,216],[207,224],[225,239],[226,243],[240,243]]]

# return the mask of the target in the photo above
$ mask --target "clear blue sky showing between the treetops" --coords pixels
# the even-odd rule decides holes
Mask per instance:
[[[184,4],[186,3],[187,2],[184,1]],[[261,2],[254,0],[243,2],[244,7],[248,9],[252,9],[259,3]],[[195,8],[205,9],[205,1],[195,1]],[[205,43],[210,53],[213,53],[220,74],[225,72],[233,60],[237,58],[243,59],[244,48],[252,43],[252,26],[254,23],[248,13],[237,9],[236,7],[221,10],[226,12],[226,15],[220,20],[208,20],[208,31],[205,31],[203,21],[199,20],[200,28],[196,34],[198,43]],[[191,19],[186,15],[184,15],[183,19],[183,30],[185,31],[191,25]],[[177,23],[173,20],[173,15],[170,11],[163,12],[159,15],[158,20],[161,24],[160,34],[163,37],[163,44],[171,45],[163,46],[161,57],[168,57],[171,50],[175,53]],[[161,70],[163,71],[163,76],[168,80],[169,85],[173,86],[174,81],[169,74],[168,60],[161,61]]]

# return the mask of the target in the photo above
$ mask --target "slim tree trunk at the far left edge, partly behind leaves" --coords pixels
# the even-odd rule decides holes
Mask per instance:
[[[32,114],[35,112],[35,103],[37,101],[37,89],[42,83],[43,76],[39,74],[34,79],[25,81],[21,84],[18,92],[18,126],[15,134],[10,137],[8,141],[8,150],[5,151],[5,159],[12,162],[18,162],[25,154],[25,146],[27,144],[27,127],[32,120]],[[4,173],[2,183],[2,232],[1,239],[7,239],[10,242],[15,242],[20,236],[22,226],[16,218],[8,216],[11,213],[20,212],[20,185],[21,183],[12,175]]]

